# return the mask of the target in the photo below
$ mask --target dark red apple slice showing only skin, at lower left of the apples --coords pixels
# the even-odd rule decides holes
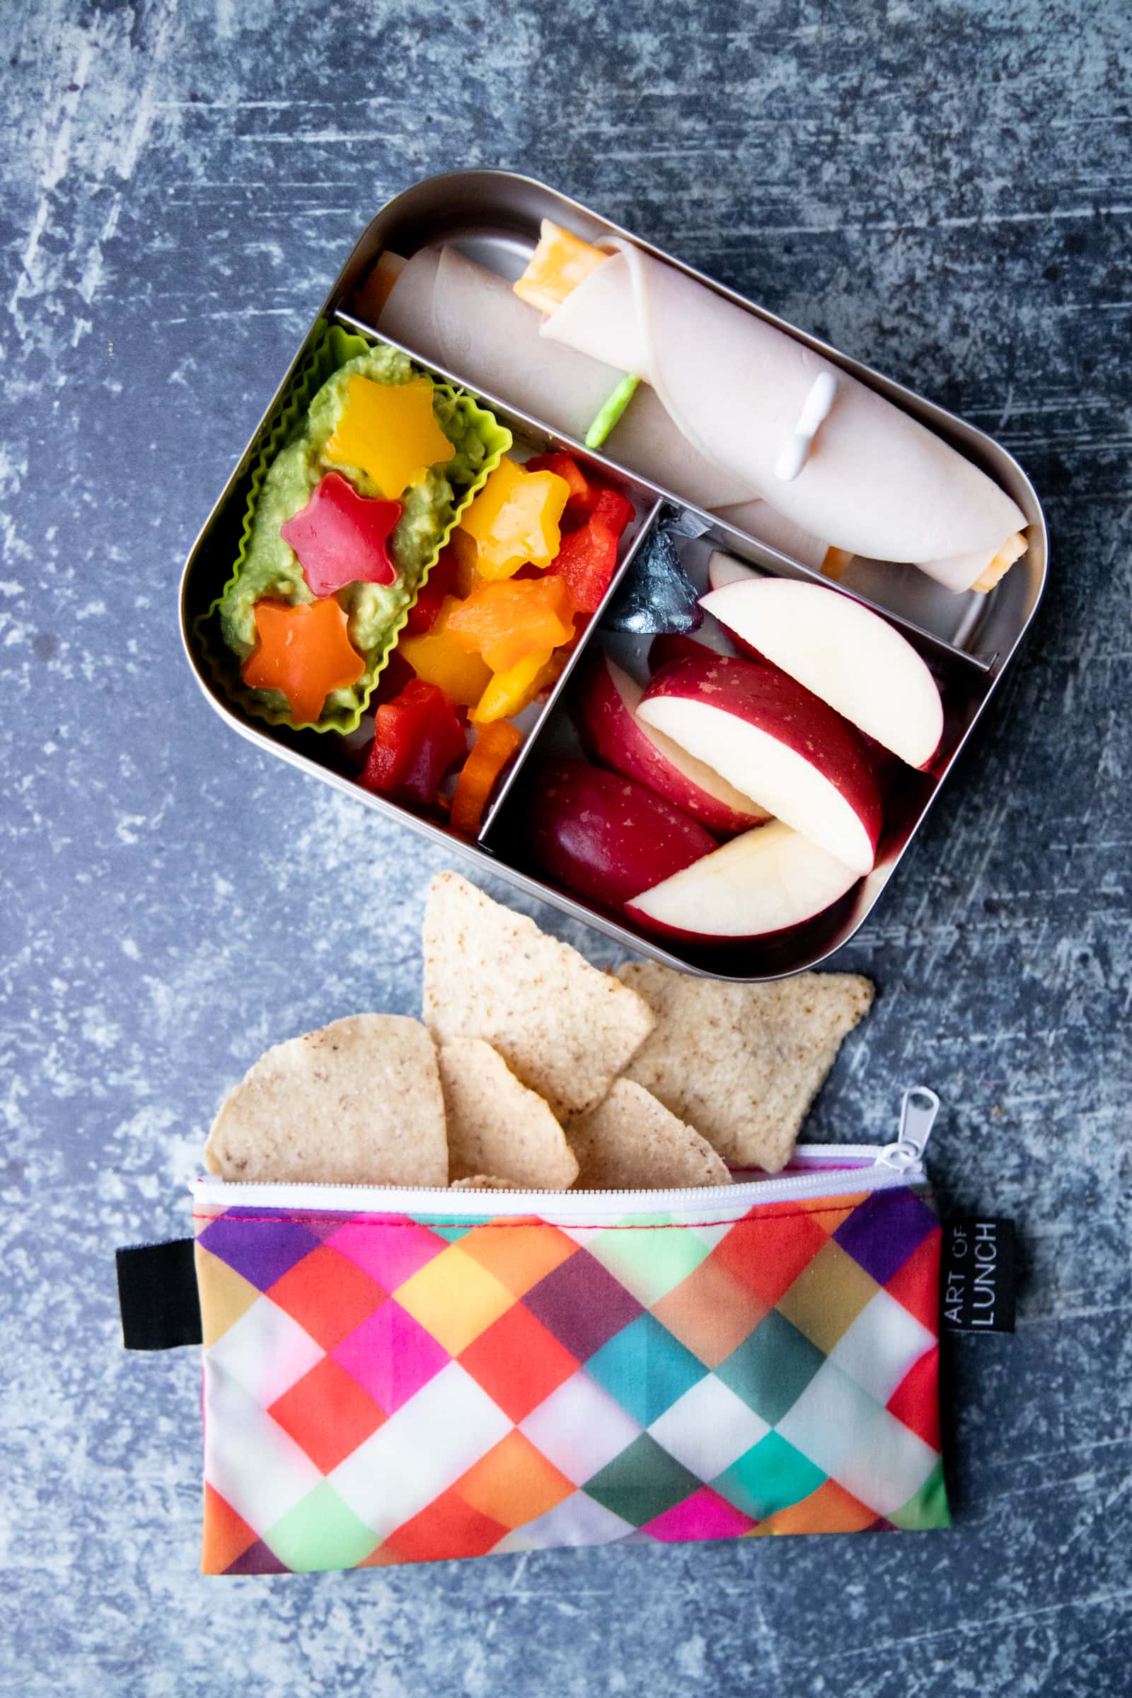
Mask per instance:
[[[586,761],[541,767],[528,829],[538,868],[599,908],[621,908],[718,847],[662,796]]]

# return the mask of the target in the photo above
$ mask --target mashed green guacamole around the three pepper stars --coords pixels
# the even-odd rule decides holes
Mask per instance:
[[[346,406],[351,377],[368,377],[378,384],[407,384],[419,372],[407,355],[377,346],[355,355],[329,377],[314,396],[302,424],[302,435],[287,443],[266,470],[244,560],[238,577],[219,603],[221,635],[241,664],[256,645],[255,603],[263,596],[287,601],[314,601],[292,548],[280,537],[280,525],[294,518],[311,499],[326,472],[341,472],[363,496],[380,496],[360,467],[331,464],[324,448]],[[489,455],[484,436],[445,389],[434,389],[433,416],[453,447],[446,465],[433,467],[419,484],[401,496],[402,514],[389,538],[389,555],[397,569],[392,584],[348,584],[338,599],[348,615],[348,633],[367,669],[356,684],[336,689],[326,698],[322,717],[356,708],[372,688],[394,630],[411,604],[421,574],[434,555],[451,523],[458,503],[475,482]],[[266,706],[287,710],[285,696],[273,689],[258,691]]]

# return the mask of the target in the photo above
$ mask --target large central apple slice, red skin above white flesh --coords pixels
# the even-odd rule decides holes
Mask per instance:
[[[871,869],[881,795],[866,747],[786,672],[711,654],[677,661],[636,715],[845,866]]]

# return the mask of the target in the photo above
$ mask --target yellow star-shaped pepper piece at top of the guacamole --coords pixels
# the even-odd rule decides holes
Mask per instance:
[[[346,409],[324,448],[336,465],[355,465],[387,501],[419,484],[433,465],[446,465],[457,450],[433,414],[433,382],[375,384],[351,377]]]

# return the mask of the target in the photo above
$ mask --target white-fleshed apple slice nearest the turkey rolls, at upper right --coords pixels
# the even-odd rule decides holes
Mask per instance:
[[[786,577],[733,581],[701,599],[745,649],[908,766],[928,766],[944,735],[940,693],[911,644],[879,613],[837,589]]]

